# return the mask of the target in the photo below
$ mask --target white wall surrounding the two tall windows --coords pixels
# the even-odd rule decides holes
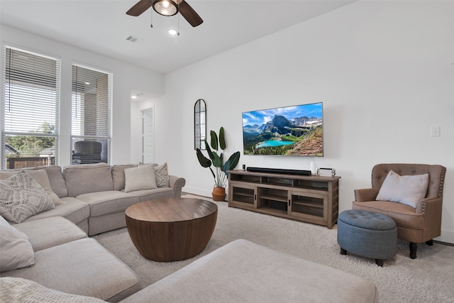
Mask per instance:
[[[70,164],[70,128],[71,128],[71,81],[72,63],[79,62],[87,66],[113,73],[113,126],[112,126],[112,163],[131,161],[131,89],[162,94],[164,77],[141,67],[90,53],[80,48],[58,43],[38,35],[18,31],[8,26],[0,28],[2,43],[18,48],[45,53],[61,59],[61,103],[60,103],[60,165]],[[81,45],[82,47],[82,45]],[[3,51],[3,50],[2,50]],[[3,62],[3,60],[1,60]],[[0,63],[3,64],[3,63]],[[3,67],[1,72],[3,73]],[[3,75],[2,75],[3,77]]]

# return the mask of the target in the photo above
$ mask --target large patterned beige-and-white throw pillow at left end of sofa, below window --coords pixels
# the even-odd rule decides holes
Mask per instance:
[[[55,209],[54,202],[25,171],[0,181],[0,215],[5,219],[21,223],[48,209]]]

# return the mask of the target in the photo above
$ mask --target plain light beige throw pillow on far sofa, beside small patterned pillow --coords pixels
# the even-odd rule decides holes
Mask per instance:
[[[125,192],[133,192],[141,189],[157,188],[155,168],[153,164],[140,165],[138,167],[126,168],[125,170]]]

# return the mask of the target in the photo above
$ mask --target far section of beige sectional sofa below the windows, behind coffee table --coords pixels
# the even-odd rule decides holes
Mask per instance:
[[[149,199],[181,197],[186,180],[169,175],[168,172],[167,186],[151,189],[147,186],[140,187],[147,181],[143,177],[147,173],[149,177],[155,177],[145,170],[149,166],[99,163],[68,165],[63,168],[57,165],[33,167],[31,170],[47,172],[52,192],[57,196],[53,200],[60,201],[55,203],[55,208],[30,216],[24,221],[62,216],[82,228],[89,236],[124,227],[128,206]],[[152,166],[164,167],[162,171],[166,175],[166,164]],[[16,173],[17,171],[0,171],[0,180]]]

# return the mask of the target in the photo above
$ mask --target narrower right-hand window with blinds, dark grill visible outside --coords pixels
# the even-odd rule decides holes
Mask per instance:
[[[72,65],[72,164],[111,162],[112,75]]]

